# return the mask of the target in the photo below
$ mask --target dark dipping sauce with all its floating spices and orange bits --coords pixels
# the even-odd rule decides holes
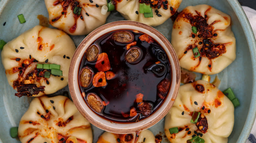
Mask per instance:
[[[85,102],[99,116],[137,122],[163,103],[171,85],[170,70],[157,41],[122,29],[104,34],[86,50],[78,81]]]

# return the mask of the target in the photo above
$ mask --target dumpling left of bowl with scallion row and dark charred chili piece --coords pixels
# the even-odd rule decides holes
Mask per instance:
[[[15,95],[42,96],[68,85],[68,72],[75,44],[63,31],[35,26],[8,42],[1,53],[9,84]],[[62,76],[50,75],[50,70],[37,69],[37,64],[60,65]]]

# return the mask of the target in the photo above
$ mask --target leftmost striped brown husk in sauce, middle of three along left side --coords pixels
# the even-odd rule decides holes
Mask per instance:
[[[89,67],[84,67],[79,74],[79,83],[81,87],[88,87],[93,79],[94,72]]]

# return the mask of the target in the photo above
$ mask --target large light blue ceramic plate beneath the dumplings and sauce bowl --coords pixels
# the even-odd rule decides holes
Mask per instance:
[[[229,136],[229,143],[244,143],[252,128],[256,113],[256,50],[255,38],[252,29],[245,16],[245,13],[237,0],[183,0],[179,10],[189,5],[208,4],[229,14],[232,20],[232,30],[236,37],[237,58],[224,71],[218,74],[221,79],[220,89],[232,87],[241,105],[235,108],[235,124],[232,134]],[[26,23],[20,24],[17,15],[23,14]],[[24,31],[39,24],[37,15],[42,14],[48,17],[48,12],[43,0],[0,0],[0,39],[10,41]],[[117,12],[112,13],[107,23],[124,20]],[[6,25],[3,24],[6,22]],[[171,19],[164,24],[155,27],[168,40],[171,40]],[[85,36],[72,36],[76,46]],[[0,58],[1,59],[1,58]],[[212,80],[216,75],[212,76]],[[198,74],[197,79],[201,75]],[[55,93],[63,94],[68,87]],[[15,91],[9,86],[5,69],[0,62],[0,143],[18,143],[10,136],[10,128],[18,126],[19,120],[29,107],[31,98],[14,96]],[[163,135],[164,119],[150,128],[154,135]],[[92,126],[94,131],[94,143],[104,131]],[[162,143],[168,142],[163,138]]]

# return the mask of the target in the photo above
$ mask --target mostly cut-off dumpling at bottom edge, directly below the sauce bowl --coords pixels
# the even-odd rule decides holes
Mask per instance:
[[[156,143],[155,139],[155,136],[149,130],[144,130],[137,134],[114,134],[104,132],[99,137],[97,143]]]

